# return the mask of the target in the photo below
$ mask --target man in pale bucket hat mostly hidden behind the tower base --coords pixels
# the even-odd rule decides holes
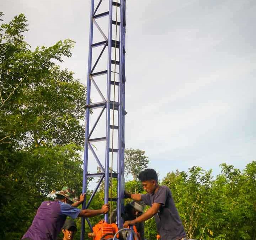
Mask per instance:
[[[126,206],[124,207],[124,214],[122,215],[122,218],[124,221],[128,221],[128,220],[134,220],[135,218],[139,217],[140,215],[143,214],[145,208],[145,203],[143,201],[140,202],[136,202],[136,201],[132,201],[126,204]],[[111,223],[115,223],[116,222],[116,215],[117,215],[117,209],[114,209],[113,212],[111,213]],[[109,219],[110,222],[110,219]],[[140,222],[140,223],[136,223],[136,230],[137,233],[140,236],[140,240],[144,240],[144,223]],[[128,231],[125,232],[121,232],[119,234],[119,239],[126,239],[127,235],[128,235]]]

